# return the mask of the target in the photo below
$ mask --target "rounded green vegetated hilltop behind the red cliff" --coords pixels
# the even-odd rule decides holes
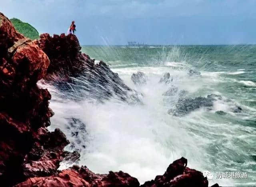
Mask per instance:
[[[17,18],[12,18],[10,21],[12,22],[14,28],[27,38],[32,40],[39,38],[38,31],[30,24],[24,23]]]

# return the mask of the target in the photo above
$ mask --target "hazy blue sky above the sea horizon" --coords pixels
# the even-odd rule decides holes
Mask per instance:
[[[256,0],[1,0],[0,12],[81,44],[256,44]]]

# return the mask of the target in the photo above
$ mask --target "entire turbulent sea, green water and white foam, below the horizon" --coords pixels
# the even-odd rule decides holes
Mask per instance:
[[[106,62],[130,88],[142,93],[143,104],[113,97],[104,102],[84,97],[65,99],[48,86],[55,112],[50,128],[59,127],[80,151],[80,165],[95,173],[125,171],[140,183],[163,174],[172,161],[188,159],[188,167],[210,171],[210,184],[256,184],[256,46],[84,46],[91,58]],[[189,70],[201,75],[189,75]],[[147,84],[137,85],[133,73],[144,72]],[[160,84],[169,72],[178,88]],[[220,95],[211,109],[200,107],[186,115],[168,110],[186,97]],[[86,95],[86,94],[84,94]],[[216,112],[223,111],[223,112]],[[67,167],[63,163],[62,167]],[[216,172],[247,172],[247,179],[216,179]]]

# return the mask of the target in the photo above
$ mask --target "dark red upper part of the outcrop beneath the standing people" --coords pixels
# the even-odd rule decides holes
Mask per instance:
[[[94,64],[86,54],[80,52],[81,46],[75,35],[65,34],[51,37],[49,34],[41,34],[36,41],[40,48],[47,54],[51,63],[47,70],[46,79],[51,76],[68,78],[80,74],[86,63]]]

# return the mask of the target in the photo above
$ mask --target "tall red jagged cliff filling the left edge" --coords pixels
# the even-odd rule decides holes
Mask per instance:
[[[52,175],[68,144],[49,132],[51,95],[36,82],[46,75],[48,56],[16,32],[0,14],[0,183],[11,186],[28,177]]]

